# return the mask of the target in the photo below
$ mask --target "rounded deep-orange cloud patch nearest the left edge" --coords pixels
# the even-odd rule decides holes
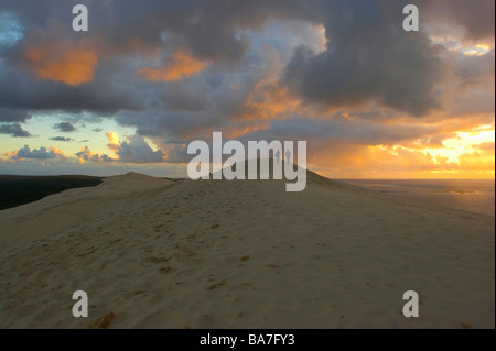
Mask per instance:
[[[78,86],[94,79],[97,52],[85,42],[43,41],[26,48],[25,59],[39,79]]]

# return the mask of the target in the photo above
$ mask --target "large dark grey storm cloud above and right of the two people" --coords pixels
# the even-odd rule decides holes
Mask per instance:
[[[301,46],[283,81],[308,102],[369,102],[413,116],[440,108],[434,95],[443,65],[422,32],[405,32],[400,1],[334,1],[326,6],[327,50]]]

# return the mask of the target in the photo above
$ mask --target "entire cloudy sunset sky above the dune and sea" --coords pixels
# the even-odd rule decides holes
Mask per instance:
[[[184,177],[215,131],[332,178],[494,179],[495,1],[0,0],[0,174]]]

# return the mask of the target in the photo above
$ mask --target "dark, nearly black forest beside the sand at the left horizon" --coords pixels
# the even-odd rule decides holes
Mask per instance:
[[[96,186],[104,177],[0,175],[0,210],[33,202],[71,188]]]

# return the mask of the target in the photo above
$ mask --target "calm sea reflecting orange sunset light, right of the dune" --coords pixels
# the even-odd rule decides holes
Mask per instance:
[[[493,179],[342,179],[375,191],[495,217]]]

